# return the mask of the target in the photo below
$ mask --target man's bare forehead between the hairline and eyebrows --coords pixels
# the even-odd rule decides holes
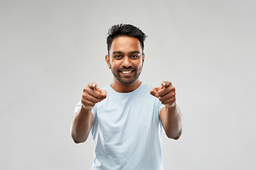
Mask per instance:
[[[114,38],[112,45],[110,47],[110,52],[120,51],[120,52],[130,52],[139,51],[142,52],[142,45],[137,38],[129,36],[120,36]]]

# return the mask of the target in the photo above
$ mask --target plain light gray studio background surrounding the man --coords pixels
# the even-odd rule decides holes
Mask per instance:
[[[165,169],[256,169],[256,1],[0,1],[0,169],[90,169],[70,121],[105,86],[110,26],[149,37],[141,80],[169,80],[185,118],[162,139]]]

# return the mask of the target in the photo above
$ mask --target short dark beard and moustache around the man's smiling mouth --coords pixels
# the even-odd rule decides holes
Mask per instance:
[[[122,84],[132,84],[134,81],[136,81],[139,78],[139,75],[142,73],[142,67],[141,69],[136,69],[134,67],[128,67],[128,68],[122,68],[122,69],[117,69],[115,72],[112,68],[112,65],[110,64],[111,72],[114,75],[114,77],[121,82]],[[122,77],[122,71],[125,71],[126,69],[132,69],[132,75],[129,77]]]

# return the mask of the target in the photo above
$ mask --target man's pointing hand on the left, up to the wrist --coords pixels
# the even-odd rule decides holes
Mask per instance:
[[[90,83],[83,89],[81,99],[82,107],[92,110],[95,103],[98,103],[105,98],[107,98],[107,91],[97,88],[97,84],[95,83]]]

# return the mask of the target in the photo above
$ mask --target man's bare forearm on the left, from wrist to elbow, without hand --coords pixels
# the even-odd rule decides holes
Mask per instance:
[[[73,117],[71,135],[75,143],[85,142],[90,133],[91,110],[81,107]]]

